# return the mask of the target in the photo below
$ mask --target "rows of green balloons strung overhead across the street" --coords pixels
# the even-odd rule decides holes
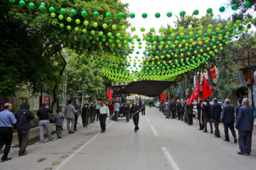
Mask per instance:
[[[67,8],[54,8],[46,6],[43,3],[39,6],[28,1],[9,0],[11,4],[28,6],[37,12],[48,13],[50,18],[55,18],[53,26],[60,29],[63,33],[77,33],[76,36],[86,36],[87,42],[92,42],[92,47],[87,46],[85,49],[79,47],[76,42],[68,41],[69,47],[80,52],[102,50],[105,55],[99,57],[92,56],[91,62],[96,67],[100,67],[102,74],[112,81],[134,81],[134,80],[174,80],[178,75],[185,72],[191,72],[201,64],[207,62],[210,57],[218,55],[220,50],[223,50],[225,45],[230,41],[239,38],[244,32],[248,32],[252,27],[252,23],[256,23],[256,18],[252,20],[247,18],[245,21],[236,21],[235,23],[218,23],[209,24],[208,26],[198,27],[180,27],[178,29],[159,28],[159,34],[156,34],[155,28],[136,28],[132,26],[130,30],[140,30],[144,33],[146,30],[149,33],[144,33],[143,37],[135,34],[131,36],[127,26],[118,26],[117,23],[108,25],[101,22],[98,18],[105,17],[112,20],[113,16],[117,16],[119,20],[125,20],[127,16],[124,13],[87,13],[84,10],[76,10],[75,8],[67,10]],[[250,6],[249,1],[245,1],[245,8]],[[236,10],[237,4],[233,4],[230,8]],[[226,8],[220,6],[219,11],[224,12]],[[207,8],[204,13],[213,13],[212,8]],[[198,9],[193,11],[193,15],[197,16],[200,13]],[[186,11],[180,11],[181,17],[186,16]],[[170,18],[173,13],[154,14],[155,18],[167,17]],[[87,17],[90,17],[90,22]],[[136,19],[142,17],[145,20],[148,17],[146,12],[142,15],[129,13],[129,17]],[[92,21],[92,19],[94,21]],[[75,27],[74,27],[75,23]],[[94,46],[93,46],[94,45]],[[140,53],[135,46],[142,49]],[[106,50],[107,49],[107,50]],[[114,50],[115,49],[115,50]],[[113,55],[114,54],[114,55]],[[136,54],[132,60],[132,54]],[[118,56],[118,57],[117,57]]]

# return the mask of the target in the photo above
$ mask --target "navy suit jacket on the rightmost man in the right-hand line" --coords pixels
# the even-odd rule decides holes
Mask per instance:
[[[238,118],[235,128],[239,131],[252,132],[253,130],[253,109],[250,106],[242,106],[238,111]]]

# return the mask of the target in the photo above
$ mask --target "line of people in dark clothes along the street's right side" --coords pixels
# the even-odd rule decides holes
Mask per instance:
[[[219,123],[223,123],[226,142],[230,142],[228,129],[230,129],[234,142],[239,143],[240,151],[238,154],[250,155],[252,147],[252,130],[254,124],[254,109],[249,106],[248,98],[238,98],[238,106],[235,109],[230,103],[230,100],[225,99],[225,105],[222,107],[218,103],[217,98],[213,98],[213,105],[210,101],[202,103],[200,100],[196,104],[197,115],[199,120],[199,130],[208,132],[207,125],[210,125],[210,133],[213,133],[213,125],[215,128],[215,137],[220,137]],[[181,120],[188,125],[193,125],[193,103],[188,104],[188,101],[181,99],[176,102],[163,101],[160,110],[166,118]],[[235,114],[236,113],[236,114]],[[235,120],[236,118],[236,120]],[[235,133],[235,128],[238,130],[238,137]]]

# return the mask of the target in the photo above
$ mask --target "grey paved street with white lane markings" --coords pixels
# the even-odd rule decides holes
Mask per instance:
[[[223,132],[222,125],[220,127]],[[28,155],[24,157],[18,157],[17,148],[12,149],[9,154],[12,160],[0,163],[0,169],[226,170],[256,167],[255,136],[252,155],[241,156],[236,153],[238,144],[233,143],[233,137],[230,136],[231,142],[224,142],[198,130],[195,121],[193,126],[188,126],[164,118],[158,108],[146,108],[146,116],[140,115],[139,128],[134,133],[132,120],[126,123],[124,119],[108,120],[105,133],[100,133],[98,122],[89,128],[79,124],[75,134],[69,135],[64,130],[61,140],[28,146]]]

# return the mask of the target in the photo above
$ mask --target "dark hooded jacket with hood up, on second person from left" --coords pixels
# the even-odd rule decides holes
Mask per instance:
[[[30,121],[33,120],[35,116],[29,111],[29,104],[27,102],[22,102],[21,108],[15,113],[15,118],[17,120],[15,125],[17,130],[29,130]]]

